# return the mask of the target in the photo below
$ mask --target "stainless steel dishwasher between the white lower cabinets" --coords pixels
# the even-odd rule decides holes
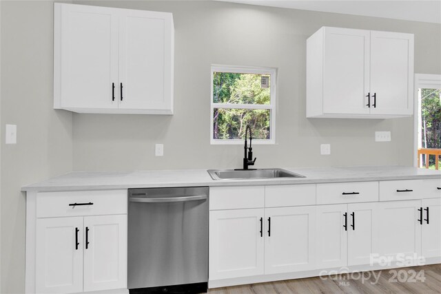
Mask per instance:
[[[208,187],[129,189],[130,294],[205,293]]]

